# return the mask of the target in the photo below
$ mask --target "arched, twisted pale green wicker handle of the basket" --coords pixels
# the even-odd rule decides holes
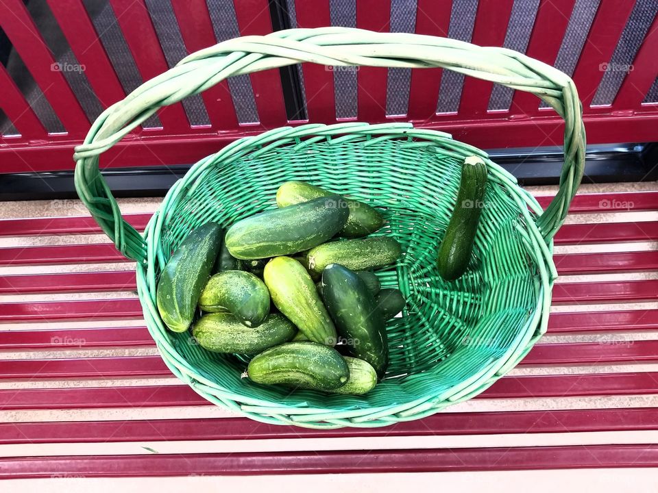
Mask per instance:
[[[555,199],[537,220],[548,242],[562,225],[583,176],[585,129],[570,77],[550,65],[504,48],[404,33],[344,27],[289,29],[245,36],[202,49],[154,77],[104,111],[75,148],[75,188],[103,231],[126,257],[146,262],[142,236],[121,217],[99,171],[99,155],[163,106],[202,92],[232,75],[313,62],[332,66],[441,67],[525,90],[564,118],[564,166]]]

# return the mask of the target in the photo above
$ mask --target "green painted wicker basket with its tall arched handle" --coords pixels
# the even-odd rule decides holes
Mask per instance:
[[[565,119],[565,164],[545,212],[487,154],[448,134],[406,123],[302,125],[243,138],[197,162],[169,190],[144,236],[121,218],[99,173],[99,154],[164,105],[239,75],[296,64],[443,67],[537,94]],[[539,130],[538,130],[539,131]],[[248,36],[198,51],[108,108],[77,147],[80,198],[117,248],[137,261],[139,298],[164,362],[208,401],[263,422],[304,427],[375,427],[428,416],[470,399],[517,364],[546,331],[552,236],[583,174],[585,131],[572,80],[508,49],[415,34],[327,27]],[[480,155],[489,184],[470,270],[443,281],[435,255],[448,225],[460,166]],[[365,396],[265,387],[241,379],[238,357],[211,354],[189,333],[167,331],[156,309],[156,279],[193,228],[276,207],[286,180],[301,179],[367,201],[385,212],[378,234],[397,238],[404,257],[382,271],[408,307],[387,325],[387,378]]]

